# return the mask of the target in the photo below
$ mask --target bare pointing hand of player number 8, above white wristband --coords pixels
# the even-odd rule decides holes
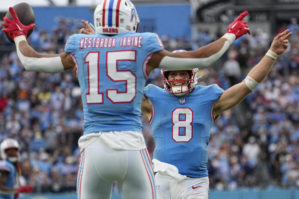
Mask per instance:
[[[292,32],[289,32],[290,30],[287,29],[283,31],[282,33],[279,33],[274,39],[271,44],[270,50],[272,50],[274,53],[277,53],[278,55],[284,53],[288,47],[288,38],[292,35]]]

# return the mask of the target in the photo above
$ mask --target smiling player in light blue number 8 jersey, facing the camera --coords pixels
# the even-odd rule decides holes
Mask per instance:
[[[161,69],[165,89],[152,84],[145,87],[141,109],[150,120],[156,145],[152,162],[158,199],[209,197],[206,164],[212,124],[263,81],[275,59],[287,49],[292,35],[288,32],[278,34],[245,80],[228,90],[216,84],[197,85],[198,68]]]

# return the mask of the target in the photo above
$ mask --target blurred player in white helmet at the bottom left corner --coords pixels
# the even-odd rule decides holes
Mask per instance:
[[[0,145],[0,199],[15,199],[19,193],[32,193],[30,185],[19,185],[19,143],[7,138]]]

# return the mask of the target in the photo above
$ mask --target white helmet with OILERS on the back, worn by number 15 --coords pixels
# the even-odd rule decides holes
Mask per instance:
[[[93,23],[96,33],[116,35],[136,32],[139,18],[129,0],[101,0],[94,11]]]

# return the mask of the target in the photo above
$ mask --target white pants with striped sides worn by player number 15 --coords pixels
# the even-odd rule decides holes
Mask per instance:
[[[77,198],[110,199],[115,180],[123,199],[156,199],[148,151],[112,149],[97,139],[81,152]]]

